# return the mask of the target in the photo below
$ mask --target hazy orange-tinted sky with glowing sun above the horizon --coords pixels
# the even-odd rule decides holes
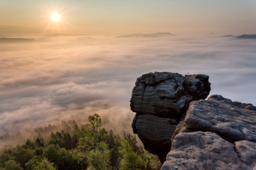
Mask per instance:
[[[254,0],[0,0],[0,34],[252,34],[255,16]]]

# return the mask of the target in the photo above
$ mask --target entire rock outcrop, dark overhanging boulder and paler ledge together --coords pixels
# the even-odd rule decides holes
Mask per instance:
[[[256,107],[210,96],[207,75],[155,72],[136,81],[132,127],[162,169],[256,169]]]

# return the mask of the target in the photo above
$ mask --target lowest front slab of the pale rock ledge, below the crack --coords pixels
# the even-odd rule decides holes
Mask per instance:
[[[248,146],[248,143],[246,143]],[[255,146],[255,145],[254,145]],[[240,149],[238,149],[240,150]],[[248,151],[249,148],[244,150]],[[244,154],[246,157],[246,154]],[[255,162],[255,160],[254,160]],[[254,165],[252,165],[254,166]],[[197,131],[178,134],[162,170],[167,169],[252,169],[239,159],[232,143],[216,133]]]

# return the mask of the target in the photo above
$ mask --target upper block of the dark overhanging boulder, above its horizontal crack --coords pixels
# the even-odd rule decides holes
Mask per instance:
[[[137,78],[130,107],[138,114],[179,118],[190,101],[205,99],[210,93],[207,75],[183,76],[171,72],[155,72]]]

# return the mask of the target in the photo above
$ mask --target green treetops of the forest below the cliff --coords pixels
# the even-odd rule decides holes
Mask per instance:
[[[89,116],[89,124],[71,127],[62,122],[62,131],[27,140],[0,153],[0,170],[6,169],[159,169],[156,156],[138,146],[135,136],[124,133],[123,139],[102,127],[100,116]],[[158,166],[159,165],[159,166]]]

